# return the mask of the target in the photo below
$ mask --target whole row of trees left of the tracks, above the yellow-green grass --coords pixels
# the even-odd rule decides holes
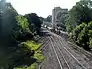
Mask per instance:
[[[25,36],[39,35],[41,21],[37,14],[18,15],[10,3],[0,1],[0,42],[22,40]],[[23,37],[22,37],[23,36]],[[9,43],[9,42],[7,42]]]

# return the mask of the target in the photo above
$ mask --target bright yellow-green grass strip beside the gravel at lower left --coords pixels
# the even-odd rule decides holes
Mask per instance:
[[[22,44],[24,44],[28,49],[35,51],[32,57],[37,59],[37,61],[31,64],[30,66],[25,65],[23,67],[16,67],[14,69],[35,69],[36,66],[38,66],[39,63],[41,63],[44,60],[44,56],[41,54],[41,51],[38,50],[38,48],[41,46],[41,43],[36,44],[34,41],[30,40],[30,41],[22,42]]]

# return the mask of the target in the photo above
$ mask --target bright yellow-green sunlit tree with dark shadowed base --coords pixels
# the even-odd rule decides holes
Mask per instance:
[[[16,16],[17,25],[19,27],[19,30],[15,32],[15,38],[20,40],[27,40],[33,38],[33,33],[29,29],[29,23],[25,16],[18,15]]]

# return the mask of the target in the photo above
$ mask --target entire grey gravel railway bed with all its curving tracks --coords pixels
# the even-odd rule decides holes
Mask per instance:
[[[39,69],[92,69],[91,53],[69,43],[62,36],[48,30],[43,32],[42,52],[45,60]]]

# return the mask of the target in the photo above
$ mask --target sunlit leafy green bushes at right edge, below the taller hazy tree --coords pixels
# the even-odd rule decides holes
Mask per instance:
[[[73,33],[72,33],[73,40],[87,50],[92,48],[91,23],[92,22],[89,22],[88,25],[86,23],[82,23],[76,26],[76,28],[73,30]]]

